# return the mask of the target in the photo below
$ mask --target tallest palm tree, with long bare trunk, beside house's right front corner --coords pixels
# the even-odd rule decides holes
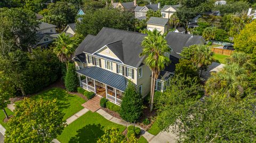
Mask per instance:
[[[155,82],[161,70],[164,70],[165,65],[170,63],[170,58],[165,56],[171,52],[165,37],[156,29],[148,31],[148,36],[142,41],[142,53],[140,56],[146,56],[145,63],[151,70],[151,89],[150,89],[150,112],[153,110]]]

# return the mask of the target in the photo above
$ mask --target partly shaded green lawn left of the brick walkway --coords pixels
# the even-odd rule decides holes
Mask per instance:
[[[68,94],[68,92],[62,88],[51,88],[37,95],[31,96],[30,98],[35,100],[39,100],[40,98],[43,98],[44,100],[57,99],[58,107],[63,113],[65,113],[63,120],[68,119],[68,117],[82,110],[82,104],[85,103],[83,98],[77,95]],[[20,104],[20,102],[15,104]]]

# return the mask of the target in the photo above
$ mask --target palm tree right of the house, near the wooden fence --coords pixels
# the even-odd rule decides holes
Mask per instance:
[[[197,68],[200,69],[199,77],[201,77],[203,69],[206,69],[208,65],[212,64],[212,55],[213,53],[211,49],[206,45],[197,45],[195,47],[194,55],[191,58],[191,61],[193,61]]]

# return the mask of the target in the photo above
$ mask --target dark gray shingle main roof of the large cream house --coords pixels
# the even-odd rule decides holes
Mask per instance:
[[[138,68],[144,57],[139,57],[142,52],[141,42],[147,35],[137,32],[102,28],[97,36],[87,35],[76,48],[75,54],[83,52],[93,54],[105,45],[111,45],[111,51],[118,57],[123,56],[123,63]],[[119,41],[115,43],[116,41]],[[122,47],[121,42],[122,41]],[[115,43],[115,44],[114,44]],[[123,53],[122,53],[122,48]],[[119,53],[120,52],[120,53]],[[122,59],[120,59],[122,60]]]

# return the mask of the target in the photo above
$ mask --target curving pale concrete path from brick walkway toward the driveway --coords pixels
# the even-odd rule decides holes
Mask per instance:
[[[97,113],[99,113],[101,116],[105,117],[107,120],[117,123],[117,124],[122,124],[125,125],[126,127],[128,127],[129,125],[133,125],[129,122],[126,122],[122,119],[117,119],[116,117],[111,116],[110,114],[108,114],[106,111],[99,109],[97,111]],[[135,127],[139,127],[137,125],[135,125]],[[141,134],[144,138],[146,138],[147,141],[152,140],[155,136],[153,134],[148,133],[147,131],[143,130],[141,127],[139,127],[141,130]]]

